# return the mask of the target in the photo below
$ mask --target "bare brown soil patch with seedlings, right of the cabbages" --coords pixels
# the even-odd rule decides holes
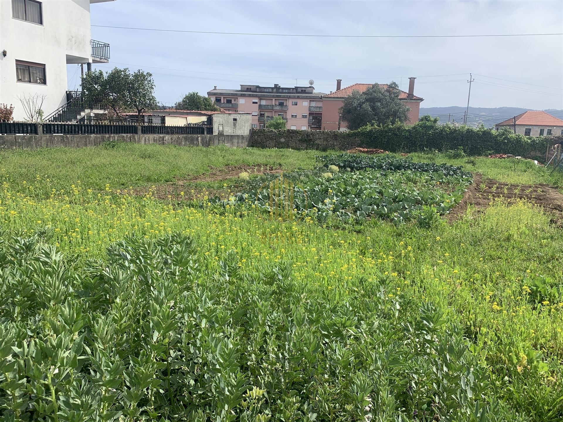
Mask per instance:
[[[560,194],[556,188],[544,183],[513,185],[495,180],[483,181],[481,174],[478,173],[473,176],[473,185],[467,188],[463,199],[448,214],[448,221],[454,222],[460,219],[470,204],[479,210],[485,210],[498,199],[509,203],[517,199],[530,201],[551,213],[552,222],[563,222],[563,194]]]

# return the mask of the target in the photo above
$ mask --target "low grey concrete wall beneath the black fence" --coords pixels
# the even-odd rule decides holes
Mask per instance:
[[[119,135],[0,135],[0,148],[79,148],[97,146],[106,141],[158,143],[178,146],[226,145],[234,148],[249,146],[249,135],[181,135],[181,134],[119,134]]]

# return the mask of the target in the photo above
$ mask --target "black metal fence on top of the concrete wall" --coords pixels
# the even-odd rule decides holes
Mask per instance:
[[[97,123],[26,123],[0,122],[0,134],[39,134],[54,135],[100,135],[100,134],[213,134],[213,125],[188,124],[185,126],[165,126],[160,124],[137,125],[136,122],[97,122]]]

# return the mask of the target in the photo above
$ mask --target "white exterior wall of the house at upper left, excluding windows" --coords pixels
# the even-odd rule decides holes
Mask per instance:
[[[66,102],[66,64],[92,62],[90,0],[43,0],[42,9],[39,25],[15,19],[12,2],[0,1],[0,102],[14,105],[14,120],[25,120],[20,96],[45,95],[51,114]],[[17,82],[16,60],[44,64],[47,84]]]

